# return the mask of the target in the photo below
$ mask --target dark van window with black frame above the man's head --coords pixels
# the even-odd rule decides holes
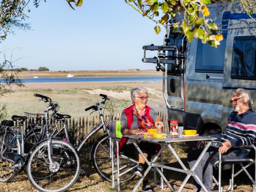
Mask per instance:
[[[256,80],[256,37],[234,38],[231,78]]]

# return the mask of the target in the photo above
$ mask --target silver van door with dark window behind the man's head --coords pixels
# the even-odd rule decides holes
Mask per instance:
[[[254,31],[256,22],[245,13],[230,12],[228,21],[222,87],[222,126],[224,127],[226,127],[228,116],[233,110],[229,103],[233,90],[246,89],[250,97],[249,105],[252,106],[253,110],[256,110],[256,32]]]

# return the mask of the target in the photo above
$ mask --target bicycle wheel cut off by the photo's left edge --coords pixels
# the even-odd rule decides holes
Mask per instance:
[[[20,145],[18,140],[15,139],[12,141],[12,138],[15,136],[15,133],[12,131],[7,131],[4,137],[4,131],[0,134],[0,182],[10,182],[16,174],[15,169],[10,169],[14,166],[13,162],[5,160],[8,158],[6,153],[18,153]]]

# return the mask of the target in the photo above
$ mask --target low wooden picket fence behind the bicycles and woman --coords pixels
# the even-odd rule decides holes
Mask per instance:
[[[43,122],[43,114],[39,114],[41,116],[38,116],[38,114],[36,115],[37,115],[36,118],[30,118],[26,121],[25,132],[28,132],[30,130],[28,123],[34,122],[34,123],[41,124]],[[166,111],[158,112],[158,115],[160,115],[160,117],[162,118],[162,121],[164,122],[164,125],[165,125],[165,129],[166,128],[168,129],[168,115]],[[108,121],[109,118],[110,116],[104,117],[106,122]],[[120,118],[121,118],[121,114],[118,113],[118,114],[114,114],[111,120],[120,120]],[[72,135],[74,136],[74,140],[76,144],[78,144],[88,133],[90,133],[92,128],[94,128],[99,122],[100,122],[100,118],[98,118],[98,116],[85,116],[85,117],[66,119],[68,131],[72,132]],[[58,125],[58,127],[61,127],[60,122],[54,122],[53,124]],[[17,122],[15,126],[19,126],[17,125]],[[99,138],[102,135],[103,135],[103,130],[101,129],[97,134],[95,134],[92,137],[92,139],[90,139],[89,143],[94,142],[97,138]]]

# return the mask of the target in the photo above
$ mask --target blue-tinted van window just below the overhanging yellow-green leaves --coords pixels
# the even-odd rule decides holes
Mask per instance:
[[[227,36],[223,34],[223,40],[218,48],[203,44],[198,40],[196,54],[196,72],[201,73],[223,73],[225,48]]]

